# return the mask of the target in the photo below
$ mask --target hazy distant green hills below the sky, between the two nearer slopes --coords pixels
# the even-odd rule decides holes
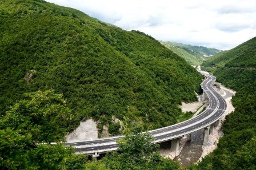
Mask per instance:
[[[222,50],[217,50],[215,48],[206,48],[202,46],[191,46],[182,43],[174,42],[161,42],[164,46],[169,48],[171,51],[175,52],[179,56],[182,56],[189,64],[198,66],[203,60],[207,59],[209,56],[218,54]]]

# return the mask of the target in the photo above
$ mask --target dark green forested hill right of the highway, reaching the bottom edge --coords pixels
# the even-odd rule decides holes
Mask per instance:
[[[237,94],[218,148],[195,169],[256,169],[256,38],[209,58],[202,66]]]

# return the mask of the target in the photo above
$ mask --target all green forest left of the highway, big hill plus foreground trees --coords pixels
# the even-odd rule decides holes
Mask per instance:
[[[185,117],[178,104],[197,100],[203,77],[184,59],[149,35],[41,0],[0,1],[0,30],[1,169],[179,168],[133,128]],[[59,143],[87,118],[113,135],[113,118],[123,120],[118,154],[91,161]]]

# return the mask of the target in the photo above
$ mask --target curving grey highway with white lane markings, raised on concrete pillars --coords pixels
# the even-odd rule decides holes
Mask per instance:
[[[226,101],[213,88],[215,76],[205,74],[205,80],[201,83],[201,87],[207,97],[209,98],[209,106],[201,114],[186,120],[184,122],[167,126],[153,131],[149,131],[154,136],[154,143],[162,143],[163,141],[177,139],[183,137],[199,129],[208,127],[216,122],[226,111]],[[98,140],[79,141],[74,143],[65,143],[64,145],[72,145],[76,153],[85,153],[93,155],[94,153],[105,153],[115,151],[118,149],[116,140],[122,136],[106,137]]]

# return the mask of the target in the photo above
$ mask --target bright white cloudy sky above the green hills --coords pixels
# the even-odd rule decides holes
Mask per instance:
[[[255,0],[46,0],[161,41],[229,50],[256,37]]]

